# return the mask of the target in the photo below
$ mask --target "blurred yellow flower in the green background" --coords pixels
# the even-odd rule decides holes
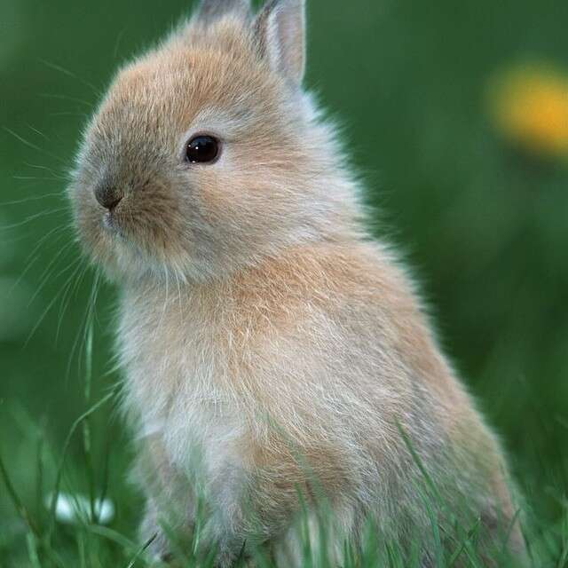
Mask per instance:
[[[568,157],[568,75],[525,65],[491,85],[493,121],[501,134],[534,154]]]

